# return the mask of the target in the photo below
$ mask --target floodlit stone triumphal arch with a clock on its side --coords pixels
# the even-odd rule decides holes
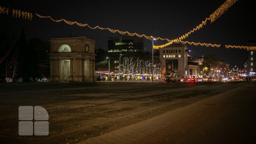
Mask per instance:
[[[49,41],[50,81],[96,81],[93,39],[67,37]]]

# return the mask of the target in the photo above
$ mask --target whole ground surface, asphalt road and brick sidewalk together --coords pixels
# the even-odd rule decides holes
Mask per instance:
[[[0,84],[1,143],[256,143],[256,82]],[[20,136],[18,107],[41,106],[48,136]]]

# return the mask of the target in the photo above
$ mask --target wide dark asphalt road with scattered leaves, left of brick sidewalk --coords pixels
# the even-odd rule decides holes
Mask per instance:
[[[233,90],[240,83],[2,83],[0,142],[78,143]],[[44,107],[49,114],[49,135],[18,135],[19,106]]]

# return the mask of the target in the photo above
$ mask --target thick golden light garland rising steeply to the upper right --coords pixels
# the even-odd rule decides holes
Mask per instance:
[[[181,41],[182,39],[187,38],[191,33],[193,33],[194,31],[199,30],[200,28],[203,27],[203,25],[206,25],[207,20],[210,20],[211,23],[214,22],[215,20],[217,20],[217,18],[219,18],[222,14],[224,14],[225,11],[227,11],[229,9],[229,7],[231,7],[233,4],[235,4],[235,2],[237,2],[238,0],[226,0],[217,10],[215,10],[213,12],[212,15],[210,15],[209,18],[206,18],[204,21],[202,21],[201,24],[199,24],[196,28],[193,28],[193,30],[191,30],[190,32],[184,34],[183,36],[176,38],[176,39],[172,39],[169,40],[167,39],[168,43],[160,45],[159,47],[157,47],[157,49],[159,48],[163,48],[166,46],[171,45],[172,43],[178,43],[178,41]],[[214,44],[213,44],[214,45]],[[215,44],[216,45],[216,44]],[[197,46],[197,45],[196,45]]]

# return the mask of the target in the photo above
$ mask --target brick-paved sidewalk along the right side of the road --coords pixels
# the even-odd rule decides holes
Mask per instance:
[[[123,127],[80,144],[256,143],[255,82]]]

